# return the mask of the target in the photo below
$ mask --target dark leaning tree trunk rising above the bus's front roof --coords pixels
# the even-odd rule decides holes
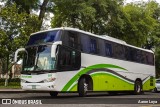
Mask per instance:
[[[43,18],[45,16],[46,6],[47,6],[48,2],[49,2],[49,0],[44,0],[41,7],[40,7],[40,13],[39,13],[39,17],[38,17],[38,19],[40,20],[39,30],[41,29],[41,26],[43,23]]]

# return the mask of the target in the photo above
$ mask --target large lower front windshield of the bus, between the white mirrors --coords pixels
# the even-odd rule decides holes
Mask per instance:
[[[26,49],[23,71],[50,71],[55,69],[55,60],[51,58],[51,45],[40,45]]]

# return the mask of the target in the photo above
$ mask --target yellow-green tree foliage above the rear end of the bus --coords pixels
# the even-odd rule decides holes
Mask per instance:
[[[127,20],[124,29],[125,38],[128,43],[142,47],[153,36],[153,30],[157,26],[152,17],[153,12],[147,5],[128,4],[123,8]]]

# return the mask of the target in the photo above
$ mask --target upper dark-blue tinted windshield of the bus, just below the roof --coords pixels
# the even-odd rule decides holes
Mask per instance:
[[[60,40],[59,32],[60,32],[59,30],[54,30],[54,31],[42,32],[31,35],[27,43],[27,46],[58,41]]]

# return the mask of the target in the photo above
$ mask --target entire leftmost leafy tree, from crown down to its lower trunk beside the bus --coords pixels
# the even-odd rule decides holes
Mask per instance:
[[[19,13],[16,4],[8,5],[0,9],[0,60],[3,70],[8,72],[9,63],[14,52],[24,46],[32,32],[38,31],[38,16]]]

